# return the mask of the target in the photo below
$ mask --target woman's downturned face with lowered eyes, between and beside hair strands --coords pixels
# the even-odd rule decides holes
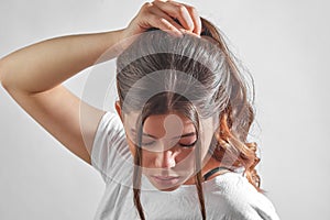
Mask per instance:
[[[136,114],[125,117],[124,128],[130,151],[134,156]],[[207,152],[212,138],[211,120],[201,120],[201,158],[208,161]],[[198,140],[193,122],[177,113],[156,114],[146,118],[142,135],[142,170],[160,190],[174,190],[183,184],[193,184],[195,176],[195,151]]]

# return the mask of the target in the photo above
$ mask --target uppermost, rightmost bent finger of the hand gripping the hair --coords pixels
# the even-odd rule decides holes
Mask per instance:
[[[188,31],[195,30],[194,21],[190,18],[190,14],[184,4],[174,2],[174,1],[154,1],[153,4],[158,7],[162,11],[168,14],[172,18],[177,19],[182,26]]]

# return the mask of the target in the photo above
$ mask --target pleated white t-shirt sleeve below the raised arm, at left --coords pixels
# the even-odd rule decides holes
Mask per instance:
[[[101,118],[92,148],[91,165],[101,174],[105,183],[121,182],[118,174],[127,173],[132,164],[122,122],[118,114],[106,112]]]

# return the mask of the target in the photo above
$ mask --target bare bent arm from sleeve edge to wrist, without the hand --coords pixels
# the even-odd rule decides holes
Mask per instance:
[[[119,41],[121,33],[47,40],[14,52],[0,62],[1,82],[12,98],[62,144],[88,163],[94,133],[103,112],[81,101],[61,84],[95,64]],[[88,121],[80,120],[81,109]]]

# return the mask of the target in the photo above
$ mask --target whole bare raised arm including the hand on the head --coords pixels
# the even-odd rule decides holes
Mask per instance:
[[[119,41],[150,28],[177,35],[179,30],[199,34],[200,20],[195,9],[185,4],[173,1],[145,3],[127,29],[52,38],[1,58],[0,81],[45,130],[90,164],[94,136],[103,111],[81,101],[62,82],[94,65]],[[112,50],[108,58],[114,57],[118,48]],[[80,109],[84,109],[84,119],[88,120],[80,120]]]

